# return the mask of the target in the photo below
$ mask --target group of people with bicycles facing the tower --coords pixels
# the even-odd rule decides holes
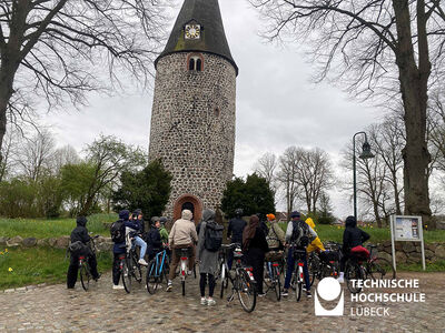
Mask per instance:
[[[168,276],[167,291],[172,290],[172,281],[175,279],[176,269],[180,261],[180,255],[177,254],[176,249],[189,249],[189,266],[188,274],[191,274],[195,263],[199,265],[200,273],[200,303],[202,305],[214,305],[214,291],[216,284],[216,273],[218,271],[218,251],[208,249],[206,244],[206,230],[215,222],[215,211],[205,210],[202,219],[196,226],[192,221],[192,212],[184,210],[181,218],[175,221],[170,232],[167,231],[165,224],[167,218],[151,218],[150,228],[146,230],[146,223],[141,210],[136,210],[132,214],[128,210],[119,212],[119,225],[125,226],[125,233],[121,236],[113,238],[113,266],[112,266],[112,289],[123,289],[119,284],[120,270],[119,256],[126,252],[126,236],[130,234],[134,239],[134,246],[139,246],[139,264],[147,265],[145,260],[146,255],[149,260],[161,251],[164,248],[171,249],[170,272]],[[253,268],[254,279],[257,285],[257,293],[259,296],[265,295],[263,290],[264,282],[264,268],[267,253],[283,251],[288,249],[286,263],[286,276],[283,290],[283,296],[288,295],[291,275],[295,270],[296,258],[294,250],[303,250],[305,255],[301,260],[304,262],[304,279],[306,295],[312,297],[309,272],[307,266],[307,253],[317,251],[320,254],[325,248],[315,232],[314,221],[309,218],[306,221],[301,220],[301,214],[297,211],[290,214],[290,221],[287,224],[287,230],[278,225],[274,214],[267,214],[268,224],[260,221],[259,214],[251,215],[249,221],[243,219],[244,212],[241,209],[235,211],[235,218],[229,221],[227,238],[231,243],[238,243],[243,248],[244,263]],[[87,244],[90,240],[88,230],[86,229],[87,219],[79,216],[77,219],[77,228],[71,233],[71,243],[81,242]],[[357,228],[357,221],[354,216],[348,216],[345,223],[345,231],[343,235],[343,255],[340,259],[340,274],[338,281],[344,282],[344,270],[346,261],[350,258],[352,249],[357,249],[369,239],[369,235],[363,230]],[[99,279],[100,274],[97,271],[97,261],[95,253],[89,251],[87,253],[88,261],[91,268],[93,279]],[[71,253],[70,265],[67,275],[67,285],[72,289],[76,284],[78,273],[79,255]],[[233,265],[233,252],[228,255],[228,268]],[[208,293],[206,296],[206,286]]]

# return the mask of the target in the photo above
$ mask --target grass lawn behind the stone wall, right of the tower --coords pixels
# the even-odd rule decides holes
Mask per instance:
[[[286,224],[280,224],[286,231]],[[369,243],[382,243],[384,241],[390,241],[389,228],[362,228],[369,235]],[[316,232],[320,238],[322,242],[333,241],[337,243],[343,242],[344,226],[317,224]],[[424,231],[425,243],[444,243],[445,242],[445,230]]]

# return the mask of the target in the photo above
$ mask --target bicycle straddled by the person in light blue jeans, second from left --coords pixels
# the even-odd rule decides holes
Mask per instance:
[[[131,279],[137,282],[142,281],[142,270],[138,263],[139,256],[136,253],[136,248],[134,248],[134,238],[131,232],[126,235],[126,253],[123,256],[119,256],[120,261],[120,272],[122,276],[123,287],[127,293],[131,292]]]

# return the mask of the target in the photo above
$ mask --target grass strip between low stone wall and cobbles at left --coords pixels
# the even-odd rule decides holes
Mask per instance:
[[[39,283],[66,283],[69,259],[66,251],[52,248],[0,249],[0,290]],[[112,254],[98,254],[98,270],[111,269]],[[79,282],[80,283],[80,282]]]

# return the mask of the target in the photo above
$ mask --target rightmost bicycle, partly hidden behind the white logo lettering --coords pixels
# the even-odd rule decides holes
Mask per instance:
[[[362,286],[359,286],[355,281],[372,279],[383,280],[385,276],[394,280],[396,279],[396,271],[393,264],[385,258],[379,258],[374,251],[377,245],[368,245],[370,251],[352,253],[350,259],[346,262],[345,266],[345,280],[347,287],[353,294],[362,292]]]

